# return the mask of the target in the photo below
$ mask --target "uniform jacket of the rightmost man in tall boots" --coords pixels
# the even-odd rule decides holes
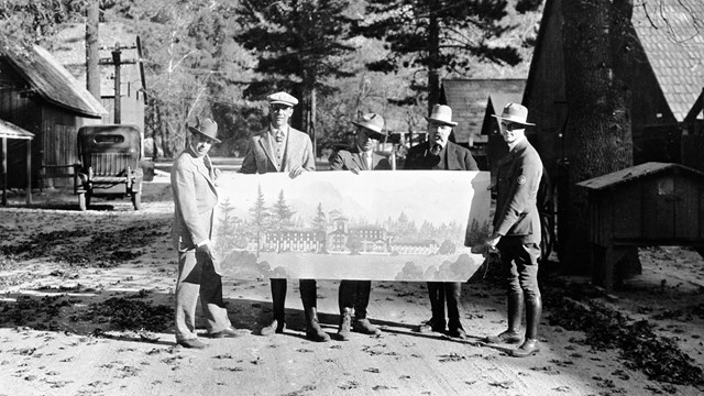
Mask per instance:
[[[520,237],[522,243],[540,243],[537,200],[541,177],[542,162],[527,139],[498,161],[495,232]]]

